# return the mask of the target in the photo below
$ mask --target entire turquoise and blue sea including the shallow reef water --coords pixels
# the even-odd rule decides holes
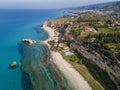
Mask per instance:
[[[61,72],[48,60],[50,53],[46,45],[40,43],[28,46],[20,43],[24,38],[49,38],[45,30],[36,27],[46,20],[63,16],[63,12],[64,10],[0,10],[0,90],[69,90],[69,82],[64,76],[59,76]],[[9,64],[13,61],[19,66],[9,69]]]

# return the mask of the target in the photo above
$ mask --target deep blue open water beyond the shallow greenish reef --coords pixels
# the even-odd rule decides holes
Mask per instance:
[[[10,70],[9,64],[21,65],[17,43],[23,38],[44,40],[48,34],[34,28],[45,20],[63,15],[63,10],[0,10],[0,90],[22,90],[20,67]]]

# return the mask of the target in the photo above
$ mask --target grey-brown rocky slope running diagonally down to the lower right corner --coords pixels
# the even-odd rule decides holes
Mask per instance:
[[[105,70],[110,78],[116,84],[118,90],[120,90],[120,65],[112,64],[109,58],[104,55],[100,55],[99,53],[93,51],[89,52],[83,46],[79,46],[76,44],[71,44],[71,48],[77,51],[80,55],[82,55],[85,59],[89,60],[92,63],[98,65],[101,69]]]

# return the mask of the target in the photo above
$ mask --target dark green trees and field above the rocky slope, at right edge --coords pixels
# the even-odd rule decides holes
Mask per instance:
[[[120,53],[120,32],[115,33],[100,33],[100,34],[94,34],[94,35],[88,35],[88,38],[96,38],[96,41],[94,43],[85,43],[86,45],[89,45],[89,48],[91,50],[96,50],[101,53],[103,53],[105,56],[110,58],[112,60],[112,63],[119,63],[119,53]]]

